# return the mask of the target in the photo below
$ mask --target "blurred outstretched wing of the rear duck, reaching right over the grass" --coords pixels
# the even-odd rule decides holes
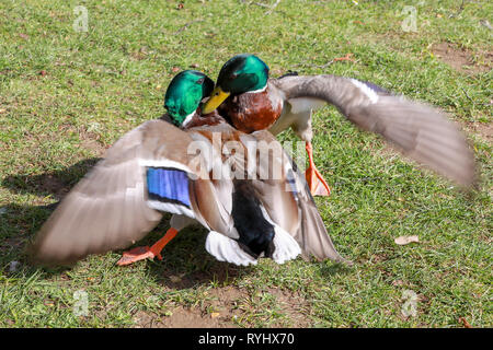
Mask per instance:
[[[381,135],[421,164],[466,187],[475,180],[474,156],[465,136],[431,106],[336,75],[286,77],[272,82],[290,103],[293,114],[306,113],[313,101],[328,102],[349,121]]]

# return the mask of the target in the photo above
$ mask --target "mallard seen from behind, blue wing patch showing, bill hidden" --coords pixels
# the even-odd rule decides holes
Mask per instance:
[[[205,247],[220,261],[246,266],[268,257],[283,264],[300,253],[345,261],[275,138],[238,131],[217,113],[200,116],[197,107],[213,88],[202,72],[174,77],[168,114],[123,136],[71,189],[35,237],[34,261],[67,265],[126,248],[164,212],[173,214],[164,236],[125,252],[118,265],[161,259],[163,247],[194,222],[208,230]],[[275,154],[271,163],[261,156],[264,147]]]

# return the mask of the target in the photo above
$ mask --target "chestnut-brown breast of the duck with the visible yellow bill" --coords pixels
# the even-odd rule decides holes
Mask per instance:
[[[260,93],[230,96],[218,109],[234,128],[250,133],[268,129],[280,116],[283,105],[270,98],[267,88]]]

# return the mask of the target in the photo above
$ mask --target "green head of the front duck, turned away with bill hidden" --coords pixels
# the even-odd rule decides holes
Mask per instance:
[[[184,70],[171,80],[164,96],[164,108],[174,125],[181,126],[192,115],[204,97],[210,95],[214,81],[203,72]]]

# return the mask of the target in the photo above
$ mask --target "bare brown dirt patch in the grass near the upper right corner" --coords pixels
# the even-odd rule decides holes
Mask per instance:
[[[484,52],[485,65],[474,63],[473,54],[450,43],[439,43],[433,46],[432,52],[443,62],[462,73],[481,73],[491,70],[493,54]]]

